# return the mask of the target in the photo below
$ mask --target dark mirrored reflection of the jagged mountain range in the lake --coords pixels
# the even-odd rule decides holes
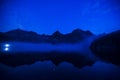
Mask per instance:
[[[90,59],[77,52],[24,52],[24,53],[2,53],[0,63],[17,67],[21,65],[30,65],[37,61],[52,61],[55,65],[62,62],[68,62],[75,67],[91,66],[95,60]]]

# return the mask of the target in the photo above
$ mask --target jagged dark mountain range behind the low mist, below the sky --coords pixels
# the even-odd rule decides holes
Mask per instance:
[[[68,34],[62,34],[59,31],[56,31],[52,35],[40,35],[32,31],[15,29],[5,33],[0,33],[0,41],[21,41],[33,43],[76,43],[90,36],[93,36],[91,32],[82,31],[80,29],[73,30]]]

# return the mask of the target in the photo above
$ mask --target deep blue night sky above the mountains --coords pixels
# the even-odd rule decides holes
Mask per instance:
[[[109,33],[120,29],[120,1],[0,0],[0,31],[16,28],[40,34],[76,28]]]

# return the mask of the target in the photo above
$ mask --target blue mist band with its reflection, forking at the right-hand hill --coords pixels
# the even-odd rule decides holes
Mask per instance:
[[[84,56],[88,59],[94,60],[96,57],[90,51],[90,44],[94,40],[93,37],[87,38],[78,43],[59,43],[59,44],[50,44],[50,43],[27,43],[27,42],[6,42],[2,45],[9,44],[9,50],[4,51],[5,54],[48,54],[56,52],[57,54],[71,54],[77,53],[81,56]],[[56,54],[56,55],[57,55]]]

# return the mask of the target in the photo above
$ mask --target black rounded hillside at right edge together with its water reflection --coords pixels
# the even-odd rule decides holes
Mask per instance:
[[[120,65],[120,30],[96,39],[90,48],[102,60]]]

